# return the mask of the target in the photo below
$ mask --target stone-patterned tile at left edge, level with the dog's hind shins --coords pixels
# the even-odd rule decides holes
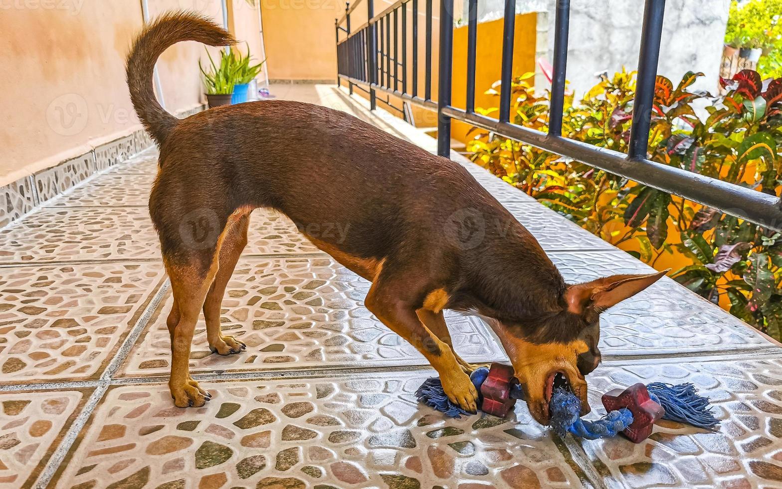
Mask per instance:
[[[159,263],[0,268],[0,384],[99,376],[163,276]]]

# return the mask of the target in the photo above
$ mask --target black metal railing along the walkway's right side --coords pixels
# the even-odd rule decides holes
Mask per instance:
[[[558,0],[554,21],[554,73],[551,83],[551,115],[547,132],[536,131],[511,123],[511,77],[515,34],[515,0],[505,0],[500,75],[500,111],[497,119],[475,113],[475,41],[477,0],[468,1],[468,49],[465,109],[451,105],[451,67],[453,63],[454,0],[440,0],[439,15],[439,90],[432,100],[432,0],[425,5],[425,95],[418,95],[418,0],[398,0],[377,16],[373,16],[373,0],[365,0],[368,22],[350,31],[350,13],[356,4],[346,9],[342,20],[336,20],[338,76],[350,87],[368,87],[371,107],[375,108],[375,92],[436,110],[438,115],[437,151],[450,156],[450,121],[461,120],[497,135],[526,142],[540,149],[581,161],[592,167],[649,185],[684,199],[715,207],[726,214],[752,221],[765,228],[782,231],[782,201],[774,195],[723,182],[716,178],[692,173],[677,167],[647,159],[651,110],[655,96],[662,20],[665,0],[646,0],[641,32],[633,121],[630,126],[628,154],[599,148],[561,136],[562,112],[567,67],[570,1]],[[407,4],[413,12],[412,83],[407,84]],[[401,39],[397,11],[402,12]],[[393,15],[392,15],[393,14]],[[346,28],[341,27],[343,24]],[[346,38],[339,40],[339,31]],[[392,35],[393,33],[393,35]],[[384,36],[385,34],[385,36]],[[379,45],[378,45],[379,41]],[[401,59],[398,49],[403,45]],[[400,73],[401,70],[401,89]],[[411,90],[408,92],[408,88]]]

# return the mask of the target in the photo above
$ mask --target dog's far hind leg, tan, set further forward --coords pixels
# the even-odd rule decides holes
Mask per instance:
[[[220,268],[214,276],[214,281],[206,294],[203,303],[203,316],[206,319],[206,339],[211,351],[221,355],[240,353],[246,349],[245,343],[233,336],[224,335],[221,331],[220,310],[225,287],[231,280],[231,275],[247,245],[247,229],[249,214],[243,214],[236,220],[229,220],[220,246]]]

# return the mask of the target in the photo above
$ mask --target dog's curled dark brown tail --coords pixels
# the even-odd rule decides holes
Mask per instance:
[[[138,34],[127,55],[127,88],[130,88],[138,118],[158,146],[166,140],[178,119],[157,101],[152,72],[163,51],[180,41],[199,41],[210,46],[228,46],[236,42],[228,31],[194,12],[165,13]]]

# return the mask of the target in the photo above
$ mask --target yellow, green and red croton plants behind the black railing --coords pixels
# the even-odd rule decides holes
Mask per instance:
[[[766,83],[752,70],[722,80],[726,95],[692,89],[700,73],[674,85],[657,77],[649,158],[779,195],[782,189],[782,78]],[[546,130],[548,98],[525,74],[513,81],[514,122]],[[497,85],[486,92],[497,94]],[[635,73],[622,71],[566,101],[566,137],[626,153]],[[496,109],[481,109],[489,114]],[[473,130],[472,160],[548,207],[652,266],[665,253],[689,263],[673,279],[782,340],[782,236],[730,214],[533,146]]]

